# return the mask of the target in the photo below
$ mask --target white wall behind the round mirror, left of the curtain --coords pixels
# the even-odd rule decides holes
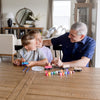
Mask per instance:
[[[5,16],[9,12],[15,16],[19,9],[26,7],[31,9],[34,15],[40,14],[40,26],[46,29],[47,6],[48,0],[2,0],[3,18],[6,21]]]

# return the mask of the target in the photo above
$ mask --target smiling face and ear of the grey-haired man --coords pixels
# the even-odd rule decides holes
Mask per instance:
[[[70,41],[72,43],[74,42],[79,42],[84,38],[84,35],[77,35],[77,31],[76,30],[70,30],[69,36]]]

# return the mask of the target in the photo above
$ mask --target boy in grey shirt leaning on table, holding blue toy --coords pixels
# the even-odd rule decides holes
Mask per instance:
[[[26,34],[21,39],[23,48],[17,53],[17,59],[14,60],[15,65],[21,65],[22,62],[28,62],[27,67],[30,66],[45,66],[48,63],[45,55],[40,49],[37,49],[35,36]]]

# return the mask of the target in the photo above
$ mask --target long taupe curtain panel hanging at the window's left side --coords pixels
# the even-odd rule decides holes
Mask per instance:
[[[47,29],[52,27],[53,0],[48,0]]]

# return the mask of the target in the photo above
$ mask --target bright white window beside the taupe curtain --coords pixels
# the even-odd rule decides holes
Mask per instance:
[[[53,26],[62,25],[66,29],[70,29],[71,18],[71,1],[54,0],[53,1]]]

